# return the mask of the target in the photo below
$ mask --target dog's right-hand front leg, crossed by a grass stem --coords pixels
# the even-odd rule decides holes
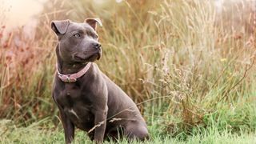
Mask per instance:
[[[102,143],[105,130],[106,130],[106,115],[107,115],[107,106],[103,109],[95,110],[95,120],[94,125],[96,126],[94,131],[94,141],[96,143]]]

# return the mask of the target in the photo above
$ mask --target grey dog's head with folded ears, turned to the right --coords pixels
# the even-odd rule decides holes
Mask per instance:
[[[94,62],[101,58],[102,48],[96,33],[98,18],[86,18],[77,23],[70,20],[53,21],[51,29],[58,37],[58,55],[64,62]]]

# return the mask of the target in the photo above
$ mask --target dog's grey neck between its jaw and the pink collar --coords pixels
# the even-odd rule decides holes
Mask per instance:
[[[57,48],[58,49],[58,48]],[[62,61],[62,58],[58,54],[58,50],[56,50],[56,55],[57,55],[57,67],[58,71],[61,74],[74,74],[77,73],[78,71],[82,70],[88,62],[76,62],[76,63],[69,63],[69,62],[64,62]]]

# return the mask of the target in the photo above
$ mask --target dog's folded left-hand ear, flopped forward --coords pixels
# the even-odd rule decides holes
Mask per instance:
[[[70,20],[62,20],[62,21],[52,21],[50,23],[51,29],[54,30],[54,32],[58,34],[65,34],[67,27],[70,24]]]

